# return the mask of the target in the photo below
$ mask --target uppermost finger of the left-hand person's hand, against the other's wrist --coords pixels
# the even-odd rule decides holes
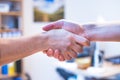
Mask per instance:
[[[78,35],[74,35],[73,36],[73,39],[78,43],[78,44],[81,44],[83,46],[89,46],[90,45],[90,42],[84,38],[84,37],[81,37],[81,36],[78,36]]]

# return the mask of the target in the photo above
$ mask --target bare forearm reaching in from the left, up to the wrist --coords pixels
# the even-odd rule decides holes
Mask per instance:
[[[0,39],[0,65],[19,60],[47,48],[44,35]]]

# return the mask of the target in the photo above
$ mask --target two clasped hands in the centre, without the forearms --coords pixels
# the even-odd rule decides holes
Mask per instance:
[[[91,25],[94,27],[94,25]],[[89,26],[90,27],[90,26]],[[81,53],[84,46],[89,46],[89,27],[76,23],[60,20],[48,24],[43,30],[48,31],[45,41],[47,47],[43,50],[49,57],[59,59],[59,61],[70,60]]]

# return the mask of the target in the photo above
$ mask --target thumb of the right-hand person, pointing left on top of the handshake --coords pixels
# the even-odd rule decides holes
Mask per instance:
[[[56,22],[53,22],[53,23],[50,23],[46,26],[43,27],[43,30],[45,31],[49,31],[51,29],[61,29],[62,28],[62,21],[56,21]]]

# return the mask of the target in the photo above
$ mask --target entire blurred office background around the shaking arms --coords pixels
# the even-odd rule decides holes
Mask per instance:
[[[0,0],[0,38],[41,33],[59,19],[120,22],[120,1]],[[91,42],[77,58],[64,62],[38,52],[1,66],[0,80],[120,80],[120,43]]]

